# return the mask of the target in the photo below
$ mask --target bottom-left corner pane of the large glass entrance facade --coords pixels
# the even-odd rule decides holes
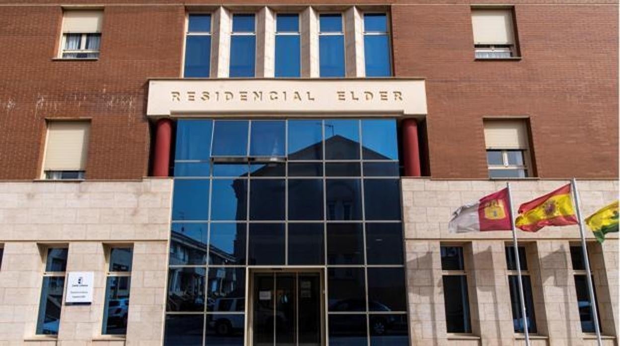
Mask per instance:
[[[203,314],[166,315],[164,346],[201,345],[204,319]]]

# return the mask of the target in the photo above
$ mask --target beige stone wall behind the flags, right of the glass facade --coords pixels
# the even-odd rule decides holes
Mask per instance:
[[[533,180],[511,183],[515,209],[523,202],[569,181]],[[505,187],[505,181],[403,178],[403,210],[412,345],[525,345],[513,332],[505,244],[510,231],[448,232],[451,212],[460,205]],[[578,181],[583,214],[618,198],[618,181]],[[581,332],[569,248],[578,244],[577,226],[547,227],[538,233],[519,231],[526,246],[538,327],[533,345],[594,345]],[[600,307],[605,345],[617,345],[618,235],[601,246],[588,234],[591,267]],[[441,244],[465,249],[472,334],[446,333]]]

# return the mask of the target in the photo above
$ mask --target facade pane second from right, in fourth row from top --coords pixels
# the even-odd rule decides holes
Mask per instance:
[[[327,264],[364,264],[361,223],[327,224]]]

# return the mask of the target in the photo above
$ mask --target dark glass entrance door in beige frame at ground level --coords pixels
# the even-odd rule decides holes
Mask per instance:
[[[252,277],[254,346],[321,346],[321,274],[260,272]]]

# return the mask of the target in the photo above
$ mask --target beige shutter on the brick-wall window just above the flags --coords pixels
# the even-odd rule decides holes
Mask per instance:
[[[525,120],[485,120],[484,140],[487,149],[528,149]]]

